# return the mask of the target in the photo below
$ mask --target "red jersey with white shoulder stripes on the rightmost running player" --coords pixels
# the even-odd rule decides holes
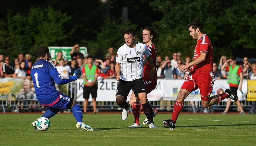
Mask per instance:
[[[213,72],[213,44],[206,34],[197,40],[193,60],[196,60],[201,55],[201,52],[207,53],[205,61],[194,65],[192,70],[197,73]]]

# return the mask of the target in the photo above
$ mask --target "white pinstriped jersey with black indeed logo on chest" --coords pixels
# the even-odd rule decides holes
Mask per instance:
[[[135,48],[122,45],[116,54],[116,62],[121,63],[120,79],[133,81],[141,79],[143,75],[143,55],[149,57],[149,50],[143,43],[136,42]]]

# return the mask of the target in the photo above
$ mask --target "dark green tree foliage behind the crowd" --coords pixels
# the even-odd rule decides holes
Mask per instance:
[[[122,7],[128,7],[127,21],[121,19]],[[134,28],[141,41],[143,27],[153,26],[159,33],[159,55],[179,51],[185,57],[193,55],[196,44],[187,24],[198,19],[213,42],[214,55],[231,56],[234,50],[256,48],[255,14],[253,0],[0,1],[0,52],[35,54],[41,45],[79,43],[103,58],[107,48],[124,44],[123,29]]]

